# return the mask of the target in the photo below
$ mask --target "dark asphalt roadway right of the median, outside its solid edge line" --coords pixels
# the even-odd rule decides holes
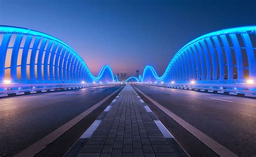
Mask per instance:
[[[156,86],[134,86],[233,153],[239,156],[256,155],[256,99]],[[159,119],[168,121],[164,116]],[[168,125],[168,122],[165,124]],[[174,136],[181,133],[174,131]],[[190,139],[180,139],[184,148],[190,147],[186,146],[186,140]],[[200,148],[197,149],[200,151]]]

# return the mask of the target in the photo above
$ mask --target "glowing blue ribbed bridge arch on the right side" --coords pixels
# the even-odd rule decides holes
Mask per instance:
[[[208,33],[183,46],[163,76],[146,66],[143,81],[239,83],[256,78],[256,26]]]

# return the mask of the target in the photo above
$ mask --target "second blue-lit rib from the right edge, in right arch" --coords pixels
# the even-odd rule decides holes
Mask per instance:
[[[232,45],[234,47],[235,58],[237,59],[237,79],[244,79],[244,65],[242,63],[241,48],[235,34],[230,35]]]

